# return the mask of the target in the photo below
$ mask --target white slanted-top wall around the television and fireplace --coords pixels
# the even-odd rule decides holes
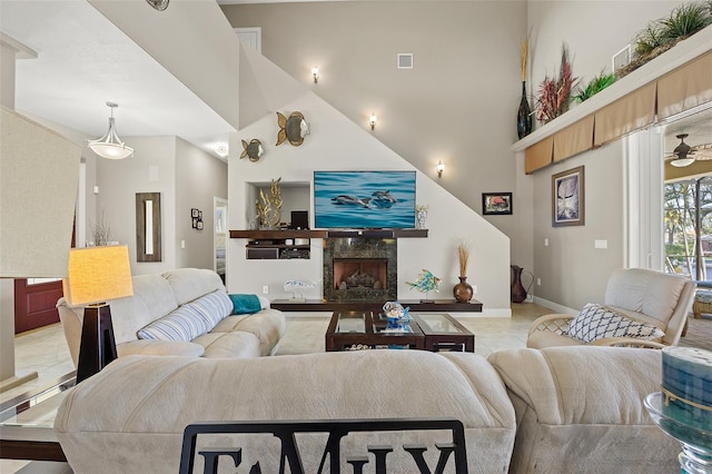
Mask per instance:
[[[300,147],[283,144],[276,147],[277,119],[266,115],[230,139],[228,165],[229,221],[231,229],[249,228],[254,201],[248,197],[248,184],[269,182],[281,177],[283,182],[310,182],[313,171],[319,170],[408,170],[402,157],[375,139],[369,131],[343,116],[310,92],[285,103],[285,115],[301,111],[312,125],[312,135]],[[240,139],[258,138],[265,155],[258,162],[238,159]],[[443,279],[441,297],[452,297],[457,283],[456,247],[464,239],[472,249],[468,282],[478,287],[475,296],[488,315],[510,315],[510,241],[495,227],[462,201],[443,190],[429,177],[417,174],[417,203],[429,206],[428,238],[398,239],[398,297],[419,298],[405,284],[417,277],[423,268]],[[309,217],[313,221],[312,208]],[[246,239],[228,243],[228,290],[261,294],[269,286],[270,298],[286,298],[283,290],[287,279],[320,280],[322,240],[313,239],[312,258],[305,260],[247,260]],[[322,286],[306,297],[320,297]]]

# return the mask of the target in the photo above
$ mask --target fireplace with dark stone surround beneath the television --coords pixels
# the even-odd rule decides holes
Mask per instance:
[[[324,298],[387,302],[397,298],[398,246],[390,238],[327,238]]]

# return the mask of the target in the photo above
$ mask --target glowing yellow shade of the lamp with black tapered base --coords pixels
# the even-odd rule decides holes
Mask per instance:
[[[126,245],[72,248],[65,298],[70,305],[106,302],[134,295]]]

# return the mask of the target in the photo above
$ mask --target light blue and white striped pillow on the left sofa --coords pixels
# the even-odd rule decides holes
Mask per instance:
[[[215,325],[201,317],[195,306],[182,305],[139,329],[137,336],[139,339],[190,342],[212,327]]]

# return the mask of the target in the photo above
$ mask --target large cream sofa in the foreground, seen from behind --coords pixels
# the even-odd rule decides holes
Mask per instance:
[[[680,446],[642,405],[659,389],[661,364],[660,350],[615,347],[513,349],[488,359],[421,350],[123,357],[67,394],[55,429],[78,474],[99,464],[103,473],[178,472],[182,432],[195,422],[411,417],[461,419],[474,473],[674,472]],[[384,436],[345,451],[363,456],[366,444],[414,443]],[[261,472],[278,472],[278,448],[266,443],[206,435],[198,451],[239,446],[243,470],[259,460]],[[317,471],[323,448],[301,444],[306,472]],[[392,455],[389,472],[417,472],[402,451]]]

